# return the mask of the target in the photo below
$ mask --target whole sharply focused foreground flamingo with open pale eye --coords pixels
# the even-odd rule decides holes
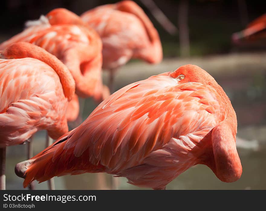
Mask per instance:
[[[151,76],[105,99],[77,128],[15,173],[30,182],[64,174],[106,172],[128,183],[165,189],[193,165],[224,182],[242,174],[232,104],[209,73],[195,65]]]

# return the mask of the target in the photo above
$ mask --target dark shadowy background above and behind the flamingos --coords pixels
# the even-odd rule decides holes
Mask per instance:
[[[8,38],[23,29],[27,20],[38,19],[40,14],[47,14],[50,10],[58,7],[67,8],[76,14],[103,4],[111,4],[118,1],[111,0],[5,0],[1,1],[0,20],[1,35]],[[179,56],[180,52],[178,34],[171,36],[165,32],[161,25],[154,19],[150,11],[141,3],[140,5],[159,31],[164,56]],[[176,0],[154,0],[156,5],[172,21],[178,25],[178,6]],[[231,35],[245,27],[245,25],[265,13],[265,1],[245,1],[246,8],[239,5],[238,0],[193,0],[188,1],[189,31],[190,31],[190,55],[206,55],[213,53],[228,53],[232,50]],[[244,17],[243,14],[244,13]],[[0,35],[0,36],[1,36]],[[3,39],[5,40],[5,39]],[[1,41],[1,37],[0,37]],[[252,46],[251,46],[252,47]],[[249,50],[251,50],[251,47]],[[257,46],[257,49],[259,47]],[[255,48],[256,49],[256,48]],[[242,49],[243,50],[243,49]],[[252,49],[254,50],[254,49]]]

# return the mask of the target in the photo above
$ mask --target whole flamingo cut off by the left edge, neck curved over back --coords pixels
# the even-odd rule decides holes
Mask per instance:
[[[12,44],[0,55],[1,190],[5,189],[5,151],[45,129],[54,139],[68,131],[67,101],[74,79],[55,56],[30,43]]]

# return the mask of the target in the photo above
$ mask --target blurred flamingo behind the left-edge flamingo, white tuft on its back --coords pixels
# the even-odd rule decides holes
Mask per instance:
[[[109,89],[102,84],[101,39],[79,16],[59,8],[26,25],[28,28],[23,32],[0,44],[0,50],[19,41],[33,43],[55,55],[69,68],[76,82],[76,94],[83,98],[93,97],[97,102],[109,96]],[[78,114],[79,102],[75,96],[66,117],[73,121]],[[47,146],[50,144],[47,136]],[[32,151],[32,147],[29,149]],[[28,153],[30,157],[32,153]]]

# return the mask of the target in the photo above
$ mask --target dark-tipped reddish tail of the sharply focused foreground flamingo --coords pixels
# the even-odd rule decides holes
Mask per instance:
[[[22,161],[15,166],[16,175],[24,178],[24,188],[34,180],[41,183],[52,177],[66,174],[102,172],[102,166],[92,165],[89,163],[88,157],[85,159],[87,155],[84,155],[84,159],[83,155],[76,157],[73,153],[74,147],[70,149],[65,147],[68,141],[70,141],[69,139],[74,130],[61,136],[56,142],[33,158]]]

